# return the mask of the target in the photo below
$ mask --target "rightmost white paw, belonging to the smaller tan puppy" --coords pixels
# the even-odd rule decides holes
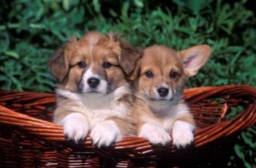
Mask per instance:
[[[194,126],[184,121],[176,121],[173,124],[173,144],[178,148],[184,148],[194,140]]]

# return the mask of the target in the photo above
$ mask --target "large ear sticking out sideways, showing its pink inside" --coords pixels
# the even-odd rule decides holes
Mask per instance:
[[[211,47],[206,44],[197,45],[179,52],[187,76],[195,76],[200,68],[206,64],[211,55]]]

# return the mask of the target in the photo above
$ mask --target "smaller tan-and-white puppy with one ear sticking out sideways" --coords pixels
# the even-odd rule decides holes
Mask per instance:
[[[206,63],[211,48],[198,45],[181,52],[148,47],[130,79],[135,80],[138,136],[153,144],[185,147],[192,143],[195,121],[183,100],[185,81]]]

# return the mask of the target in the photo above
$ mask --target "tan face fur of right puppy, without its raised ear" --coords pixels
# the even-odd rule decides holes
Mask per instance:
[[[172,86],[177,92],[182,92],[184,88],[184,83],[187,76],[184,74],[184,69],[181,63],[181,57],[178,56],[173,49],[167,47],[154,46],[149,47],[143,52],[143,59],[140,60],[140,68],[136,69],[139,72],[134,71],[134,73],[140,76],[135,82],[136,84],[135,92],[148,92],[152,93],[152,89],[158,87],[163,81],[167,83],[168,86]],[[154,79],[147,79],[143,74],[146,71],[154,72]],[[170,80],[169,73],[170,70],[175,70],[179,74],[179,78]],[[135,79],[135,76],[131,76]]]

